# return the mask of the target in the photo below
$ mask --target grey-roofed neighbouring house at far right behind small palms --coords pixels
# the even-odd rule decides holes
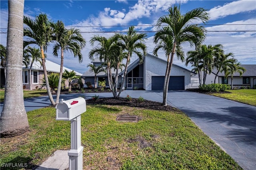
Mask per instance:
[[[256,85],[256,64],[241,64],[240,66],[244,67],[246,69],[246,72],[240,77],[240,74],[236,72],[233,76],[233,86],[250,86],[252,88],[254,85]],[[212,70],[211,74],[207,74],[206,76],[206,84],[212,84],[214,83],[214,78],[216,76],[217,70]],[[198,74],[191,77],[191,79],[198,79]],[[216,83],[220,84],[230,84],[231,85],[231,76],[228,76],[228,78],[225,78],[224,72],[218,73],[216,78]],[[199,84],[198,84],[199,85]]]

